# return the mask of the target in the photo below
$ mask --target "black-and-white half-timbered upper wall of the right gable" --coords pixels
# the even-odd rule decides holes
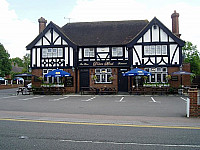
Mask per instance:
[[[133,66],[180,66],[182,45],[173,39],[173,34],[166,33],[168,30],[163,30],[162,24],[156,18],[152,22],[156,23],[149,24],[147,31],[132,47]]]

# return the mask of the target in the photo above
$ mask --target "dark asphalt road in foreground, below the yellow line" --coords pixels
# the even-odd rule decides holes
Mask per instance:
[[[200,130],[0,121],[0,149],[200,149]]]

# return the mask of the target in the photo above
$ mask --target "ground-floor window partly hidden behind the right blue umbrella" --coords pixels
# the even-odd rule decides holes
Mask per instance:
[[[167,67],[157,68],[145,68],[145,71],[151,72],[151,76],[148,76],[148,83],[166,83]]]

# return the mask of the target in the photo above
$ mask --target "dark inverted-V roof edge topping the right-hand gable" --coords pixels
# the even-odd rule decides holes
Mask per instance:
[[[177,42],[180,46],[185,45],[185,41],[181,40],[179,37],[177,37],[174,33],[172,33],[162,22],[160,22],[156,17],[154,17],[149,24],[145,28],[143,28],[138,35],[132,39],[128,47],[131,47],[134,45],[140,38],[143,36],[153,25],[158,25],[167,35],[169,35],[175,42]]]

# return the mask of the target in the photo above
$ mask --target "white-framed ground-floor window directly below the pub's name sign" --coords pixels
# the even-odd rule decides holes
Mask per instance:
[[[112,76],[111,68],[98,68],[95,69],[95,75],[97,77],[95,83],[111,83],[110,77]]]

